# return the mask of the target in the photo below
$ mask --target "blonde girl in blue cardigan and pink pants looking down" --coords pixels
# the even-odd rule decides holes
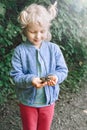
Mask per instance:
[[[14,51],[10,75],[16,84],[23,130],[50,130],[59,84],[67,77],[63,54],[50,42],[56,5],[47,10],[31,4],[18,17],[27,40]]]

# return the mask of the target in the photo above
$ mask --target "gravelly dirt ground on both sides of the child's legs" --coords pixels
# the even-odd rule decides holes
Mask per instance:
[[[14,100],[0,105],[0,130],[22,130]],[[79,93],[62,93],[56,102],[51,130],[87,130],[87,82]]]

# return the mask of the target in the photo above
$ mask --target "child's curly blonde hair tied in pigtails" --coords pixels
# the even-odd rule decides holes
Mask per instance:
[[[36,23],[41,26],[46,26],[48,29],[46,40],[51,40],[50,26],[51,21],[57,15],[57,2],[53,5],[50,5],[46,9],[42,5],[31,4],[28,7],[25,7],[23,11],[20,12],[18,16],[18,21],[21,24],[21,28],[25,31],[29,23]]]

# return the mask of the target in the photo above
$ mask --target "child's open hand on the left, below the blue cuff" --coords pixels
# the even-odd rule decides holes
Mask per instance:
[[[47,85],[47,82],[42,83],[40,78],[33,78],[32,85],[36,88],[42,88]]]

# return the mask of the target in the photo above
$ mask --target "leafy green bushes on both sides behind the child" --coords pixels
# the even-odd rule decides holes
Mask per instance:
[[[84,0],[85,1],[85,0]],[[14,83],[9,75],[14,48],[20,44],[18,13],[31,3],[46,7],[53,0],[0,0],[0,103],[14,98]],[[69,75],[61,85],[62,90],[77,92],[79,83],[86,76],[87,69],[87,2],[81,0],[58,0],[58,15],[53,21],[52,41],[62,49]]]

